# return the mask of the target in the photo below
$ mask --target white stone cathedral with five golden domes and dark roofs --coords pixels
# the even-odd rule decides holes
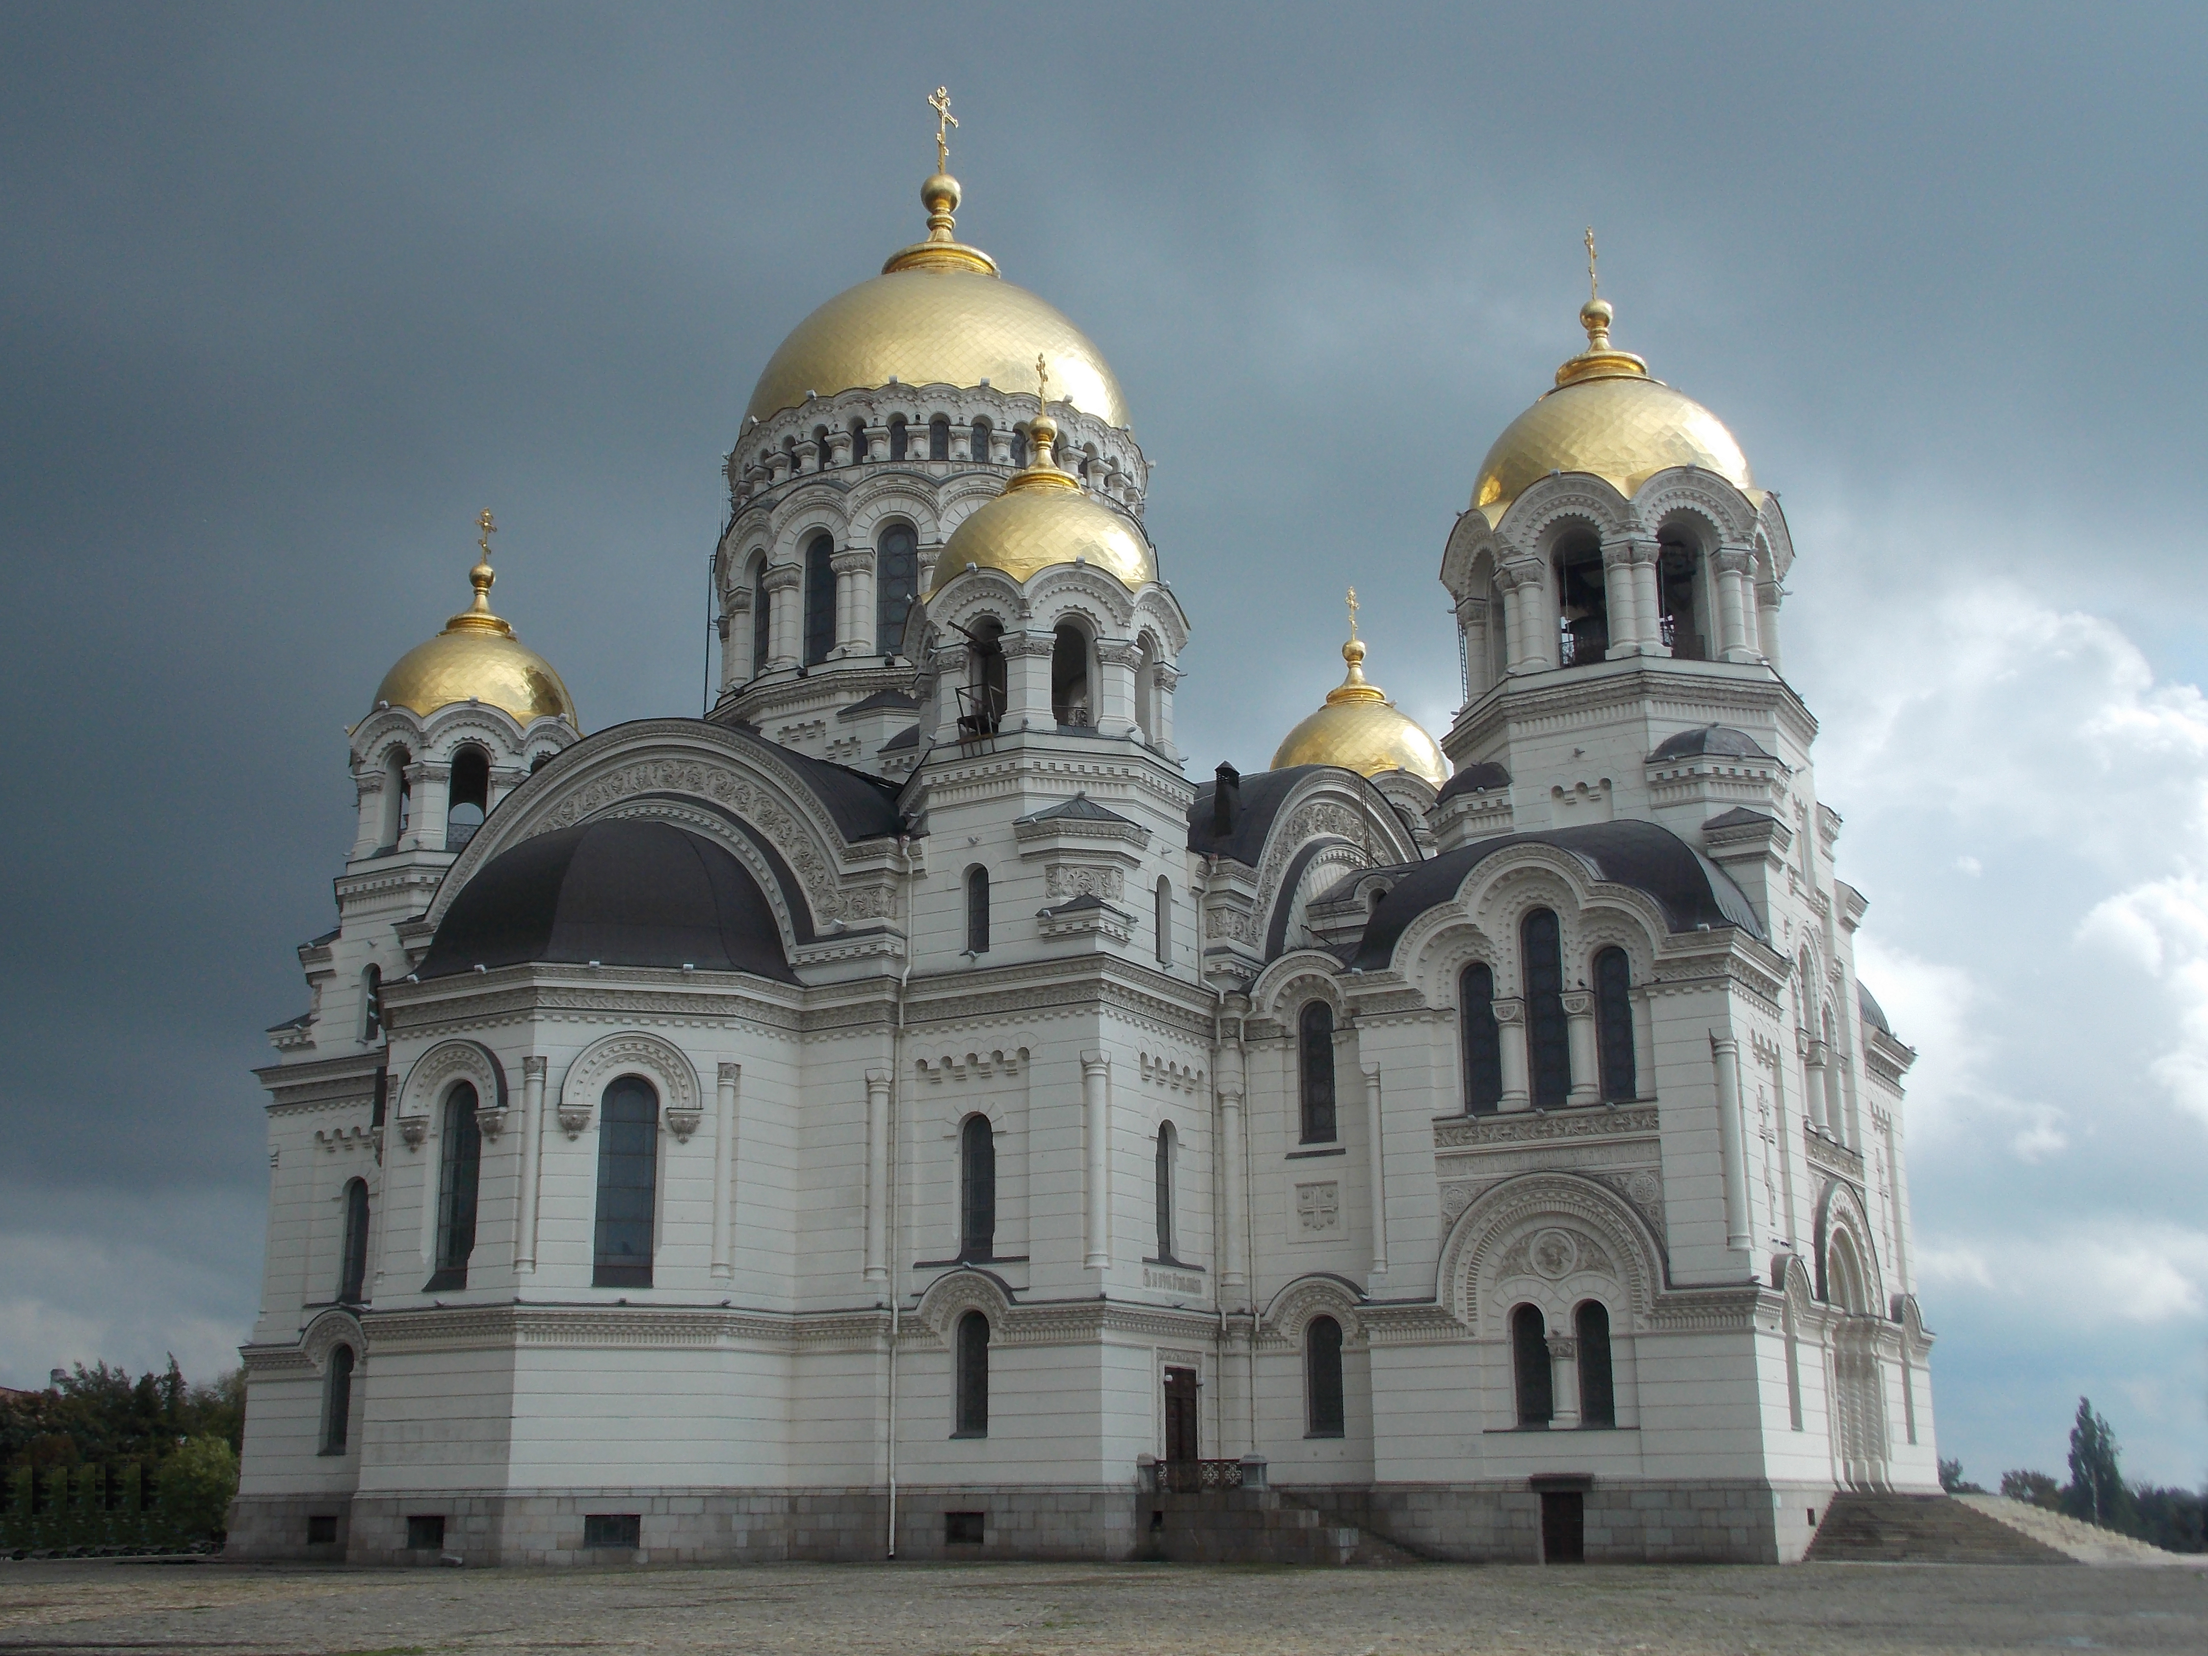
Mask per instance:
[[[751,395],[707,718],[585,735],[486,514],[353,726],[232,1552],[1791,1561],[1934,1490],[1914,1053],[1731,433],[1590,298],[1442,742],[1351,627],[1197,784],[1119,384],[921,199]]]

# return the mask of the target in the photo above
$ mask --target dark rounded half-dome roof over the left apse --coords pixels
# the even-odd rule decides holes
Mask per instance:
[[[693,965],[797,983],[751,872],[669,821],[590,821],[501,850],[453,899],[420,976],[526,960]]]

